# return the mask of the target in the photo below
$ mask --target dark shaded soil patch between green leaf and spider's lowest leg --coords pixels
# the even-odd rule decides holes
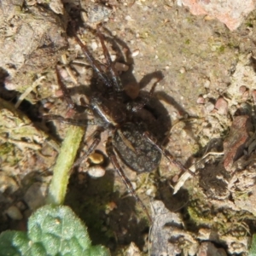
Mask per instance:
[[[148,222],[137,222],[136,201],[131,196],[120,197],[119,191],[113,189],[115,176],[111,169],[99,178],[74,172],[65,204],[84,221],[93,245],[102,244],[114,252],[118,245],[133,241],[143,248]]]

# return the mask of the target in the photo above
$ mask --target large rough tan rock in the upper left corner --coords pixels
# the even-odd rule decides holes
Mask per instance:
[[[0,26],[6,27],[0,37],[0,67],[9,73],[8,90],[32,84],[36,73],[55,66],[68,46],[66,24],[53,11],[31,6],[23,12],[13,6],[11,1],[0,5]]]

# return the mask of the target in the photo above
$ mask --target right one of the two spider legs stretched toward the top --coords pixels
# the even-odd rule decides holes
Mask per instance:
[[[106,44],[104,42],[104,37],[103,37],[102,33],[99,32],[99,31],[97,32],[97,35],[101,40],[103,53],[104,53],[105,59],[106,59],[107,64],[108,64],[108,69],[111,73],[111,78],[113,80],[114,90],[117,91],[117,92],[121,92],[121,91],[124,90],[123,84],[121,83],[121,81],[119,79],[119,76],[118,76],[118,74],[116,73],[116,71],[113,67],[113,61],[111,60],[111,57],[110,57],[109,52],[108,52],[108,48],[106,47]]]

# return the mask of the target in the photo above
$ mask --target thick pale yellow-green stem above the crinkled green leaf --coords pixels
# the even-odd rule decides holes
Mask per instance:
[[[54,205],[63,204],[68,179],[71,174],[70,169],[73,166],[83,136],[84,127],[73,125],[69,127],[67,137],[61,146],[61,152],[55,165],[53,177],[49,184],[47,203]]]

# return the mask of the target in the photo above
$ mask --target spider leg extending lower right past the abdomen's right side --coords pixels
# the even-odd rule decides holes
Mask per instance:
[[[149,143],[153,144],[161,154],[163,154],[169,162],[173,163],[175,166],[177,166],[180,170],[183,172],[189,172],[192,176],[195,176],[195,173],[190,171],[188,168],[183,166],[181,162],[175,159],[175,157],[165,148],[162,148],[159,143],[157,143],[157,140],[153,137],[152,134],[150,134],[148,131],[145,131],[143,133],[143,137],[146,137]]]

